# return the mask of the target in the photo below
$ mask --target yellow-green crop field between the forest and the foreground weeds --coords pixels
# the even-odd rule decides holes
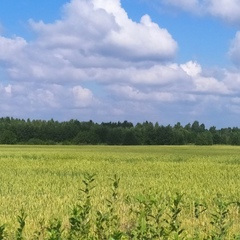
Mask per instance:
[[[68,228],[71,206],[85,201],[86,191],[80,189],[86,187],[83,180],[91,175],[95,179],[89,182],[94,186],[91,209],[108,211],[106,203],[113,205],[114,201],[107,199],[114,198],[117,191],[111,213],[118,216],[120,229],[130,232],[138,224],[135,217],[143,221],[145,216],[144,227],[140,224],[138,228],[142,235],[134,233],[121,239],[151,239],[143,235],[151,234],[143,233],[150,222],[146,215],[161,207],[170,211],[162,215],[164,224],[171,222],[167,217],[174,207],[180,209],[178,220],[171,224],[179,229],[181,225],[182,238],[172,235],[169,239],[210,239],[213,234],[219,238],[211,239],[240,239],[239,153],[240,148],[232,146],[2,145],[0,226],[6,224],[9,234],[14,232],[23,209],[27,214],[26,239],[33,239],[34,231],[52,219],[61,219],[62,228]],[[120,181],[114,190],[116,179]],[[142,207],[145,212],[141,215]]]

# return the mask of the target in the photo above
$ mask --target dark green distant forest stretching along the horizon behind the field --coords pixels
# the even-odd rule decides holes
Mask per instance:
[[[212,126],[194,121],[182,126],[131,122],[94,123],[0,118],[0,144],[106,144],[106,145],[240,145],[240,129]]]

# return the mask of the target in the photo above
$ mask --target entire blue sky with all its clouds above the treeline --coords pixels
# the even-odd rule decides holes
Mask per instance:
[[[240,0],[0,0],[0,117],[240,127]]]

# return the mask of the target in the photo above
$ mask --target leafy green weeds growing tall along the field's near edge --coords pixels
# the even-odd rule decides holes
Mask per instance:
[[[198,223],[202,214],[206,214],[211,228],[196,224],[189,231],[182,225],[181,212],[184,207],[183,194],[176,193],[166,199],[155,195],[141,195],[134,204],[129,202],[129,226],[121,222],[117,212],[119,201],[118,187],[120,179],[114,175],[111,194],[106,199],[105,210],[94,209],[91,194],[94,189],[95,175],[85,174],[79,200],[72,206],[67,226],[61,219],[53,219],[46,226],[40,223],[35,231],[34,240],[151,240],[151,239],[240,239],[239,233],[230,233],[233,222],[229,218],[231,207],[240,210],[240,202],[227,202],[222,196],[213,199],[215,209],[206,204],[194,203],[194,217]],[[126,200],[127,202],[127,200]],[[235,209],[235,210],[236,210]],[[24,210],[17,216],[18,228],[8,233],[6,225],[0,226],[0,240],[24,240],[24,227],[27,214]],[[205,224],[204,224],[205,225]]]

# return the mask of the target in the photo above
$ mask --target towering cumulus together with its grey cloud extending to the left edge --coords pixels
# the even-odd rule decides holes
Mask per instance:
[[[132,21],[119,0],[72,0],[60,20],[29,23],[34,41],[0,37],[0,60],[14,79],[84,81],[106,67],[168,61],[177,50],[166,29],[148,15]]]

